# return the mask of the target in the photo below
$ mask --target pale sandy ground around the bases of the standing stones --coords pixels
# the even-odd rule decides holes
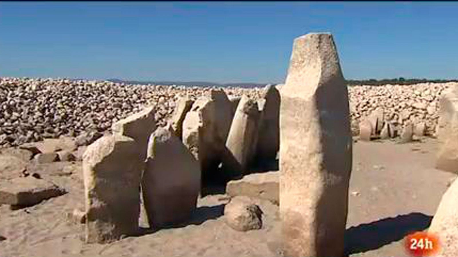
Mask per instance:
[[[426,229],[447,182],[455,175],[434,169],[435,139],[400,145],[354,143],[346,252],[350,256],[408,256],[403,237]],[[77,165],[70,169],[78,169]],[[53,175],[53,174],[50,174]],[[85,244],[84,225],[65,214],[84,205],[81,174],[49,176],[69,193],[33,207],[0,206],[0,256],[207,256],[273,257],[279,251],[278,207],[258,202],[261,230],[238,232],[224,223],[222,195],[199,199],[196,215],[178,228],[150,231],[112,244]]]

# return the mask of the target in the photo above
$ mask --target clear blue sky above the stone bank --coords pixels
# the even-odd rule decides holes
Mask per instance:
[[[0,2],[0,76],[275,83],[308,32],[347,79],[458,78],[458,2]]]

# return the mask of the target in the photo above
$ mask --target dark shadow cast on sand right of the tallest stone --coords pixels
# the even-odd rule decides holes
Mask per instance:
[[[351,227],[345,231],[345,256],[399,241],[410,233],[427,229],[431,220],[432,216],[410,213]]]

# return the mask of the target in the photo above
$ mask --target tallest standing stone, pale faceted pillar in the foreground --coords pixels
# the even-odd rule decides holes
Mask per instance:
[[[342,256],[352,166],[347,86],[328,33],[294,40],[280,103],[286,256]]]

